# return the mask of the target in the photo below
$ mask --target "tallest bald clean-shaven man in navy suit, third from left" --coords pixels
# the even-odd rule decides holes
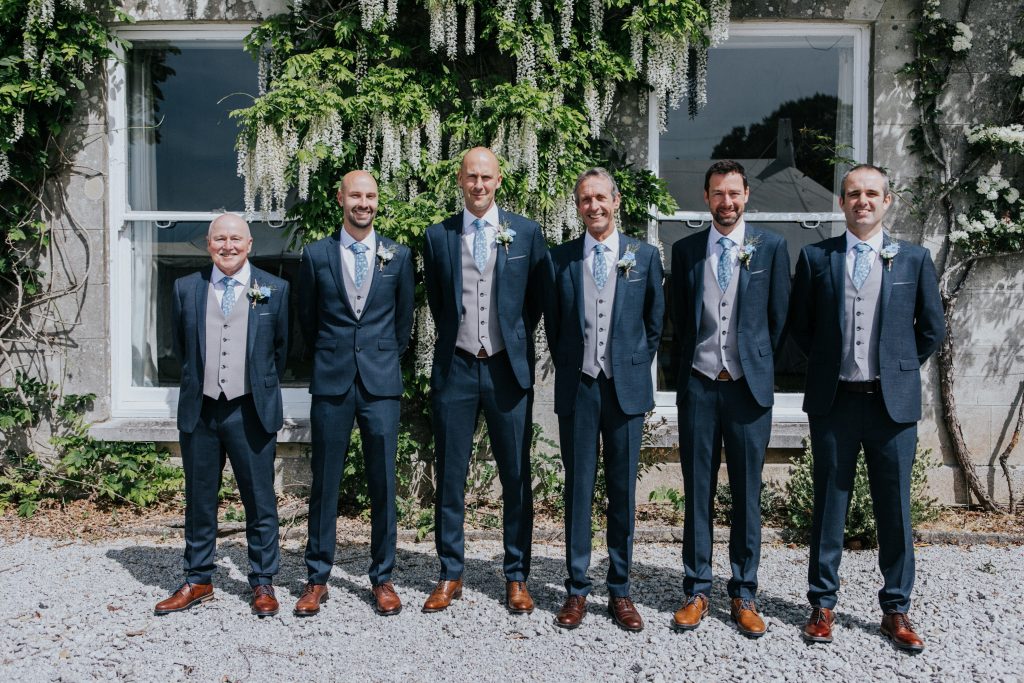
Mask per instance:
[[[481,412],[502,482],[508,608],[534,610],[526,590],[534,331],[551,266],[541,226],[495,204],[501,183],[495,155],[470,150],[459,169],[465,210],[427,228],[425,284],[437,326],[430,388],[440,578],[423,605],[426,612],[462,596],[466,475]]]

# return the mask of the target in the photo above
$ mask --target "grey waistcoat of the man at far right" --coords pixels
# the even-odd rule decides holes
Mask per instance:
[[[882,259],[876,255],[867,280],[860,291],[853,286],[850,269],[846,268],[844,288],[845,316],[843,318],[843,364],[839,369],[841,380],[866,382],[879,377],[879,333],[882,326]]]

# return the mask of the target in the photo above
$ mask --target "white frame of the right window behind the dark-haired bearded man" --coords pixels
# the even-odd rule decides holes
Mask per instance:
[[[744,39],[758,38],[759,47],[770,46],[765,38],[778,38],[779,44],[792,45],[792,40],[797,36],[814,38],[853,38],[853,126],[852,126],[852,150],[849,156],[858,163],[867,160],[867,128],[868,128],[868,86],[869,86],[869,61],[871,33],[870,27],[862,24],[813,24],[803,22],[733,22],[729,25],[728,42],[744,42]],[[660,133],[657,130],[657,98],[651,95],[647,106],[647,160],[648,168],[654,175],[659,172],[659,152]],[[845,222],[842,212],[834,213],[770,213],[752,211],[744,215],[744,218],[752,223],[764,222],[806,222],[808,227],[816,227],[819,222],[839,221]],[[707,211],[677,211],[671,214],[657,213],[655,220],[651,221],[647,232],[647,240],[652,245],[657,246],[659,221],[682,221],[691,225],[694,222],[708,223],[711,221],[711,213]],[[676,393],[674,391],[657,391],[657,362],[651,366],[651,374],[654,379],[654,415],[665,417],[675,422],[676,416]],[[802,393],[776,393],[775,405],[772,411],[773,422],[805,422],[806,415],[803,412],[804,394]]]

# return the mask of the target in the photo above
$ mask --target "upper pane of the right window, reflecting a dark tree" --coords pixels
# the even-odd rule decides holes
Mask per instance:
[[[703,210],[709,160],[734,159],[751,184],[748,211],[828,212],[851,145],[851,36],[742,37],[711,50],[708,105],[695,119],[670,110],[659,140],[660,175],[684,211]],[[802,132],[803,129],[803,132]],[[841,147],[851,156],[849,147]]]

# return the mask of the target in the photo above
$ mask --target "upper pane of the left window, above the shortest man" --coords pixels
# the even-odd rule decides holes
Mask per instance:
[[[128,56],[128,197],[135,211],[242,211],[231,110],[257,91],[238,42],[138,43]]]

